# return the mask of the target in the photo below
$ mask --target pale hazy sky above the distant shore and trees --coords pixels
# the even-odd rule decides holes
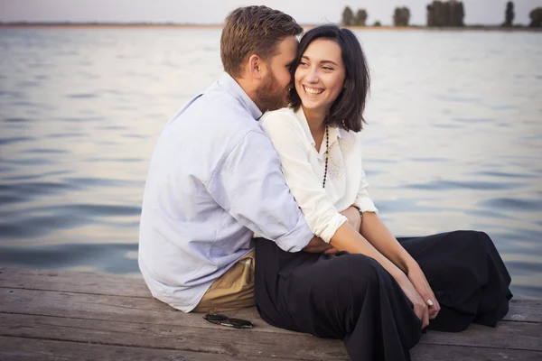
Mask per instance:
[[[410,9],[411,24],[425,24],[425,6],[432,0],[0,0],[0,22],[98,23],[223,23],[243,5],[267,5],[290,14],[298,23],[338,23],[342,10],[365,8],[368,23],[391,24],[397,6]],[[466,24],[500,24],[507,0],[463,0]],[[542,0],[514,1],[514,23],[528,24],[529,12]]]

